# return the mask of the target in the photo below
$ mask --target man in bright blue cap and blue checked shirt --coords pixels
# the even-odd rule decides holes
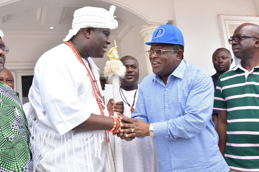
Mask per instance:
[[[214,87],[202,68],[183,60],[184,39],[175,26],[166,24],[153,34],[146,51],[153,73],[139,86],[132,118],[117,134],[130,141],[153,137],[159,171],[229,171],[218,147],[211,114]]]

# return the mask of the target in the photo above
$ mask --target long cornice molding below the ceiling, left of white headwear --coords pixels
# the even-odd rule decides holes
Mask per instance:
[[[6,31],[5,40],[52,40],[62,41],[68,32],[25,32],[25,31]]]

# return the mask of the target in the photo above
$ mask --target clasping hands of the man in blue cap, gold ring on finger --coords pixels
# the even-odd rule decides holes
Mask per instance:
[[[134,137],[145,137],[149,136],[149,124],[142,121],[141,119],[127,118],[125,116],[120,116],[123,121],[121,125],[120,133],[117,134],[121,139],[134,138]],[[124,133],[124,134],[123,134]],[[131,140],[132,140],[131,139]]]

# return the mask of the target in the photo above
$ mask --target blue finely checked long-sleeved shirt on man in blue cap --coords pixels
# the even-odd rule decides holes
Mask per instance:
[[[154,73],[143,79],[132,118],[153,123],[160,172],[229,171],[212,122],[213,99],[208,72],[183,60],[167,85]]]

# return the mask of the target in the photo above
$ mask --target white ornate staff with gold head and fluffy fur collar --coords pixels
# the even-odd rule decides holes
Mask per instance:
[[[119,97],[119,78],[125,77],[126,68],[123,63],[119,60],[119,54],[117,50],[116,41],[114,40],[115,46],[112,47],[107,57],[110,61],[106,62],[104,67],[104,77],[107,79],[108,84],[112,84],[113,99],[115,102],[120,100]],[[117,117],[117,112],[113,113],[113,116]],[[122,145],[119,137],[114,138],[115,142],[115,161],[116,171],[123,172],[123,156],[122,156]]]

